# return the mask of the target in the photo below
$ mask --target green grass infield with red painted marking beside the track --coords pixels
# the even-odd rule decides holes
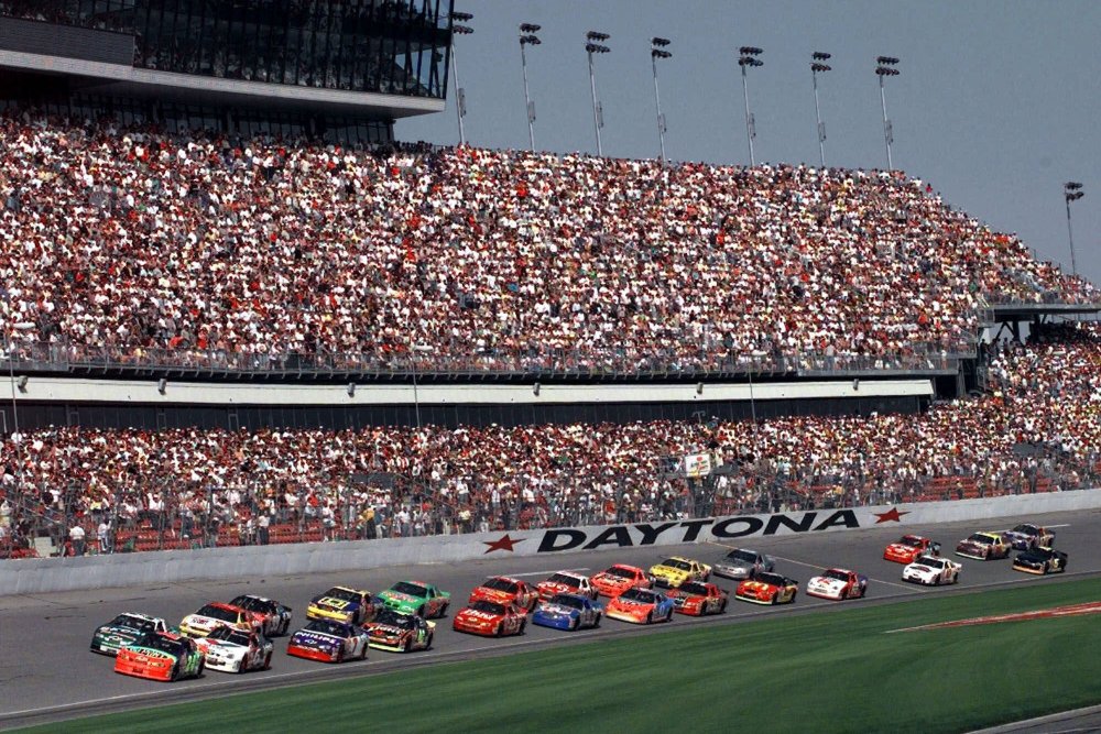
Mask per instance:
[[[1094,600],[1101,579],[839,603],[26,731],[961,732],[1101,703],[1101,620],[884,633]]]

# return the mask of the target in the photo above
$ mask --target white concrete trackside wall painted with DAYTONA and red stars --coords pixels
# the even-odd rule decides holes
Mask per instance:
[[[907,526],[1099,507],[1101,491],[1083,490],[634,525],[23,559],[0,561],[0,596],[240,577],[356,571],[473,559],[508,560],[514,556],[567,556],[581,550],[633,546],[740,543],[744,538],[770,535],[833,533],[870,527],[897,527],[900,533],[905,533]],[[564,558],[562,566],[568,567],[568,560]]]

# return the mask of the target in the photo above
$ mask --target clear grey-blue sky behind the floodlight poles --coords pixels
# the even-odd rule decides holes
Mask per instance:
[[[750,69],[761,162],[818,164],[810,54],[833,54],[819,77],[831,166],[885,167],[875,57],[896,56],[886,80],[896,168],[928,180],[946,200],[1042,260],[1070,271],[1062,185],[1071,204],[1078,271],[1101,283],[1101,2],[1098,0],[456,0],[473,13],[457,40],[466,88],[467,141],[528,145],[520,23],[538,23],[528,48],[535,144],[596,152],[585,33],[611,34],[596,57],[603,152],[656,157],[650,39],[659,62],[668,157],[749,163],[737,48],[764,50]],[[400,121],[401,140],[458,142],[454,92],[447,110]]]

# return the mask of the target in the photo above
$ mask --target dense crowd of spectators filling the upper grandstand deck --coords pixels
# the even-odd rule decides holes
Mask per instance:
[[[988,300],[1101,300],[901,172],[368,151],[30,111],[0,116],[0,321],[73,354],[945,354],[973,349]]]

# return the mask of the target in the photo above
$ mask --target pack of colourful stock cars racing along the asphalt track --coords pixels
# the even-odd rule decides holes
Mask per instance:
[[[1021,524],[1010,530],[978,532],[956,546],[956,555],[977,560],[1009,558],[1014,570],[1059,573],[1067,554],[1056,550],[1050,529]],[[941,556],[941,545],[904,535],[883,551],[902,563],[903,581],[924,585],[958,583],[962,563]],[[713,565],[672,556],[642,569],[625,563],[586,576],[563,570],[538,583],[494,576],[475,588],[467,605],[453,617],[455,631],[491,637],[522,635],[528,624],[563,631],[599,627],[603,618],[633,624],[672,622],[675,614],[706,616],[727,611],[730,598],[753,604],[791,604],[799,582],[775,570],[775,559],[734,548]],[[711,577],[738,581],[731,593]],[[805,584],[810,596],[861,599],[868,577],[828,568]],[[607,598],[601,604],[600,596]],[[368,649],[411,653],[433,645],[436,622],[447,616],[451,594],[423,581],[399,581],[379,594],[333,587],[306,607],[307,623],[291,633],[292,612],[280,602],[242,594],[230,602],[209,602],[177,626],[163,618],[126,612],[96,629],[90,649],[115,656],[117,672],[174,681],[201,676],[205,669],[242,673],[271,667],[273,637],[288,635],[286,654],[323,662],[366,659]]]

